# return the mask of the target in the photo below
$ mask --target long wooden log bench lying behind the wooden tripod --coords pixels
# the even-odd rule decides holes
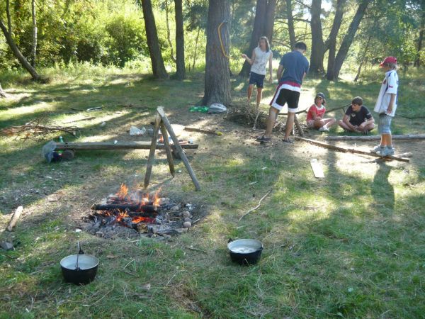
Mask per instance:
[[[150,150],[152,142],[64,142],[56,143],[55,150]],[[198,144],[181,144],[182,148],[196,149]],[[157,150],[164,150],[165,145],[157,145]]]

